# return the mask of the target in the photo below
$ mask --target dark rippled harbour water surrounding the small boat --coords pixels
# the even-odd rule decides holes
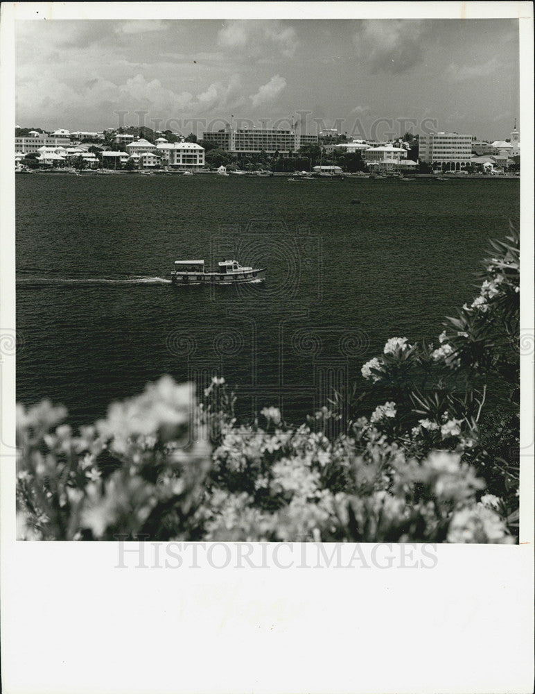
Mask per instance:
[[[217,371],[245,416],[299,420],[322,364],[353,380],[387,338],[436,338],[518,210],[518,180],[17,176],[17,400],[89,423],[164,373]],[[173,260],[222,257],[265,284],[168,283]]]

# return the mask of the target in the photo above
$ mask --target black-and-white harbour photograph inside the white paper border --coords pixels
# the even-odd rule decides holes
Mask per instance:
[[[19,539],[518,543],[517,19],[15,57]]]

